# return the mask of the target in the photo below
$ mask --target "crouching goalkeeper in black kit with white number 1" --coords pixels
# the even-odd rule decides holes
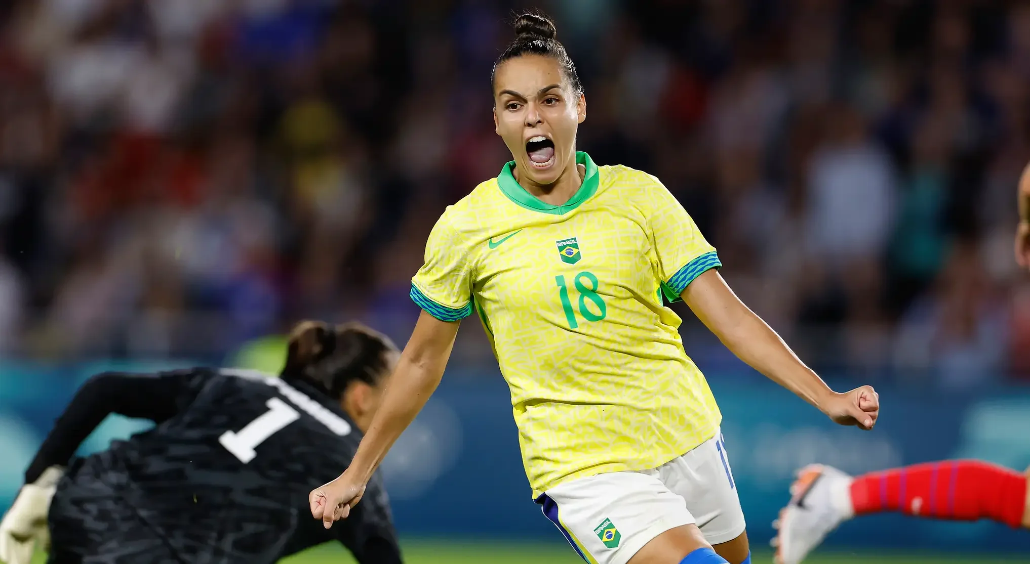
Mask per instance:
[[[263,564],[335,539],[362,564],[400,563],[378,477],[343,527],[308,516],[308,492],[349,465],[398,354],[364,325],[306,321],[280,378],[216,368],[93,377],[0,523],[0,562],[28,564],[38,543],[50,564]],[[73,458],[111,413],[157,425]]]

